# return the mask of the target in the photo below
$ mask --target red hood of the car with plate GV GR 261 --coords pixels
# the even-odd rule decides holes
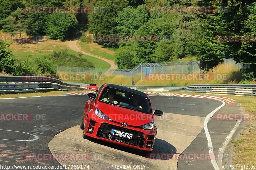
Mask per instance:
[[[98,102],[97,108],[103,112],[109,119],[127,123],[132,126],[141,126],[153,122],[153,116],[146,113],[137,112],[131,109]]]

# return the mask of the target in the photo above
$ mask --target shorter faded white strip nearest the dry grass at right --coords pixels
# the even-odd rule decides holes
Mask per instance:
[[[222,147],[219,149],[219,154],[218,154],[218,164],[222,165],[222,159],[223,159],[223,153],[226,150],[228,143],[231,140],[231,137],[234,135],[234,133],[236,132],[236,129],[238,128],[239,124],[241,123],[242,120],[238,120],[236,122],[236,125],[234,126],[234,128],[229,132],[228,136],[225,138],[225,141],[221,144]]]

